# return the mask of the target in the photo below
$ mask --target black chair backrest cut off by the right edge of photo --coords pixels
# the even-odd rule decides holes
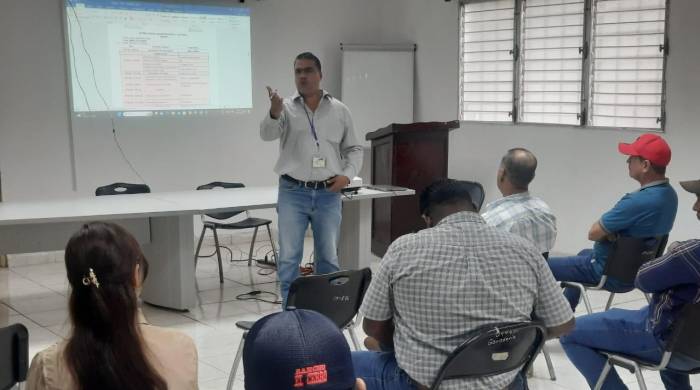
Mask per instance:
[[[700,361],[700,303],[683,307],[665,349]]]

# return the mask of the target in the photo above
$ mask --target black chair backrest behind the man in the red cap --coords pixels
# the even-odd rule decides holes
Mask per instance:
[[[605,275],[632,284],[639,267],[663,254],[668,235],[650,238],[618,237],[610,249]]]

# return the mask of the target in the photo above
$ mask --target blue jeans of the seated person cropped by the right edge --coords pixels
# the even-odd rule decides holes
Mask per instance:
[[[606,357],[597,349],[636,356],[649,362],[661,361],[663,350],[647,330],[649,307],[640,310],[610,309],[576,318],[576,328],[559,339],[564,352],[593,388],[603,371]],[[689,370],[700,366],[690,358],[673,356],[668,365],[676,370]],[[690,378],[686,374],[661,371],[661,380],[668,390],[690,390]],[[627,389],[617,372],[610,370],[604,390]]]

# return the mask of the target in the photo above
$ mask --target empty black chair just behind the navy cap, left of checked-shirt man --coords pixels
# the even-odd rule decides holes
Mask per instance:
[[[348,331],[355,350],[359,351],[360,343],[355,334],[354,319],[360,310],[362,299],[371,280],[372,271],[369,268],[302,276],[289,287],[287,307],[314,310],[330,318],[338,328]],[[243,330],[243,336],[233,360],[227,390],[233,387],[233,378],[236,376],[243,355],[243,343],[254,323],[254,321],[236,322],[236,327]]]

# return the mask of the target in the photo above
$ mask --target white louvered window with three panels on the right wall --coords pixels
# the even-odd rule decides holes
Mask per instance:
[[[663,129],[668,0],[462,0],[462,120]]]

